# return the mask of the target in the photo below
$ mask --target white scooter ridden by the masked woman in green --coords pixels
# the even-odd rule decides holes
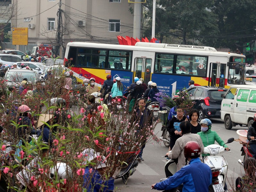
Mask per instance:
[[[233,141],[234,138],[229,138],[227,143],[232,143]],[[225,157],[219,155],[223,152],[225,152],[224,145],[222,147],[217,144],[212,144],[204,148],[204,154],[209,154],[209,156],[204,156],[204,163],[213,170],[212,176],[215,178],[212,182],[212,187],[209,187],[209,191],[224,191],[228,172],[228,163]]]

